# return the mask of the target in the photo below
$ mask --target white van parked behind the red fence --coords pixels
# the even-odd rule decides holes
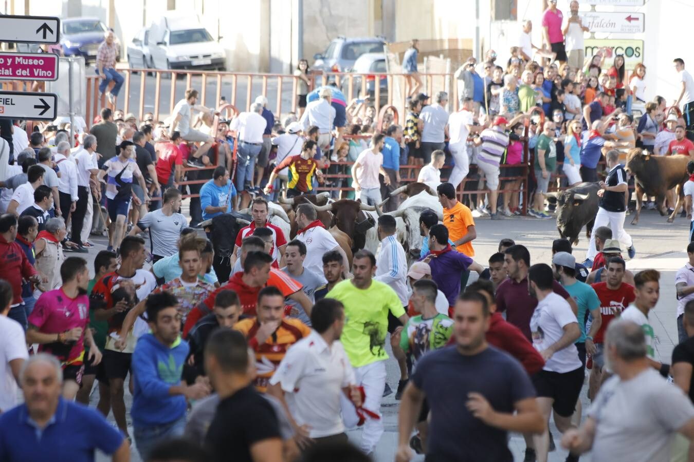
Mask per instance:
[[[153,69],[225,70],[224,49],[195,15],[169,12],[155,19],[147,45]]]

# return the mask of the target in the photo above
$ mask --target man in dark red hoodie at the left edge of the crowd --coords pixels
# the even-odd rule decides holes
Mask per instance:
[[[0,279],[12,286],[12,304],[8,318],[22,324],[26,330],[26,312],[22,305],[22,278],[35,284],[41,283],[36,269],[31,266],[17,238],[17,217],[12,213],[0,216]]]

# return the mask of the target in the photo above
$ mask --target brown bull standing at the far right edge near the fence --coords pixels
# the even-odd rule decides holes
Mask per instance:
[[[666,215],[667,211],[663,206],[663,201],[668,190],[675,188],[677,193],[677,204],[675,211],[668,217],[668,223],[675,220],[675,215],[679,208],[684,204],[684,183],[689,175],[687,174],[687,163],[691,157],[674,155],[667,157],[654,156],[641,149],[632,149],[627,156],[627,172],[636,178],[636,215],[632,224],[638,224],[638,217],[641,215],[641,202],[643,194],[655,196],[658,211],[661,215]]]

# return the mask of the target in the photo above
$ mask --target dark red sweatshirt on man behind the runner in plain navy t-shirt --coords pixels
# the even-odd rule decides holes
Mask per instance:
[[[501,313],[492,313],[489,317],[489,330],[484,335],[490,345],[518,359],[528,375],[542,370],[545,360],[538,350],[525,338],[523,332],[513,324],[507,323]],[[455,337],[450,337],[448,345],[455,344]]]

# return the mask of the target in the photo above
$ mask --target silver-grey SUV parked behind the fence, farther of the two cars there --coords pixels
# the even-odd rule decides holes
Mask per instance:
[[[323,72],[349,72],[364,53],[383,53],[380,37],[333,39],[323,53],[316,53],[312,69]]]

